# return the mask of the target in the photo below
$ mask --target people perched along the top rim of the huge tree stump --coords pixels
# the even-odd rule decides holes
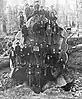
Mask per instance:
[[[26,17],[24,17],[24,13]],[[24,21],[28,21],[33,16],[36,16],[36,19],[37,17],[40,17],[40,20],[38,19],[39,21],[42,21],[44,19],[50,21],[57,20],[57,12],[54,9],[54,6],[52,5],[50,10],[48,7],[45,9],[42,5],[39,4],[39,1],[37,0],[35,1],[34,6],[29,6],[27,3],[25,5],[24,11],[20,11],[20,28],[22,28]]]

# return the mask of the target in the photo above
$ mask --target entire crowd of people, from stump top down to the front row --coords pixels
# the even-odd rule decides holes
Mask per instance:
[[[20,46],[20,42],[16,43],[15,48],[11,47],[10,59],[14,68],[25,67],[25,73],[28,78],[28,85],[41,87],[43,84],[44,76],[47,80],[52,80],[52,75],[54,70],[57,75],[61,74],[63,68],[65,67],[65,62],[62,58],[60,47],[60,38],[64,38],[61,34],[63,28],[59,27],[56,20],[54,9],[52,11],[45,10],[43,6],[40,7],[39,2],[36,1],[33,6],[29,9],[25,9],[25,14],[27,17],[27,22],[33,17],[34,24],[26,26],[24,22],[24,16],[21,12],[20,15],[20,28],[22,35],[24,37],[23,47]],[[31,21],[30,21],[31,24]],[[33,32],[31,36],[34,36],[34,42],[28,43],[28,38],[30,38],[30,32]],[[58,72],[57,72],[58,71]],[[17,72],[17,71],[16,71]],[[17,75],[15,76],[15,78]],[[18,77],[17,79],[23,79],[25,77]],[[41,85],[42,84],[42,85]]]

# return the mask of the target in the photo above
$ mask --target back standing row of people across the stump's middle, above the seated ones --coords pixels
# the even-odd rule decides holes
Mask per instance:
[[[10,59],[14,67],[26,64],[40,64],[42,66],[44,63],[53,66],[55,65],[54,62],[57,62],[61,56],[59,53],[61,53],[60,50],[56,52],[49,44],[36,42],[34,45],[24,44],[23,48],[21,48],[19,42],[17,42],[15,49],[11,47]]]

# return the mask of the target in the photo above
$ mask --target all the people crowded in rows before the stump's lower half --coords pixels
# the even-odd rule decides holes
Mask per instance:
[[[10,59],[13,68],[19,70],[13,72],[13,78],[20,82],[27,81],[30,87],[35,85],[41,88],[46,79],[55,80],[57,75],[63,72],[65,66],[60,50],[55,52],[55,49],[51,48],[50,45],[38,44],[37,42],[34,45],[24,44],[23,48],[17,42],[15,49],[11,47]],[[23,70],[24,72],[21,72]],[[57,74],[53,77],[54,72]],[[41,82],[44,78],[45,81]]]

